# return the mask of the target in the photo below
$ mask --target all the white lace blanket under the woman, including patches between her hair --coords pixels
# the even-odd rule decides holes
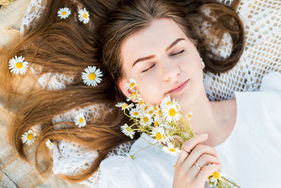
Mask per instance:
[[[223,1],[225,4],[231,4],[232,1]],[[27,12],[22,20],[21,34],[28,30],[30,24],[36,23],[41,15],[44,6],[41,1],[32,0]],[[204,73],[204,87],[207,96],[211,101],[221,101],[233,98],[234,92],[252,92],[259,90],[261,80],[264,75],[270,72],[281,73],[281,1],[256,1],[242,0],[237,7],[237,13],[244,23],[245,30],[245,48],[240,61],[234,68],[227,73],[214,75]],[[206,11],[208,15],[208,11]],[[210,25],[204,24],[202,35],[208,35]],[[210,48],[222,58],[230,55],[232,40],[230,35],[223,35],[223,43],[215,48],[217,39],[214,38]],[[34,75],[40,71],[32,68]],[[46,73],[38,77],[38,81],[43,88],[60,89],[65,87],[65,83],[72,82],[73,77],[67,77],[58,73]],[[76,113],[83,112],[86,119],[97,117],[100,105],[88,106],[83,109],[74,109],[53,118],[53,123],[63,120],[73,120]],[[62,141],[58,149],[53,150],[53,173],[63,173],[65,175],[75,175],[81,170],[89,168],[98,153],[74,142]],[[129,153],[131,143],[121,144],[109,153],[110,156],[124,155]],[[98,178],[100,171],[94,173],[88,180],[80,182],[89,187],[98,187]]]

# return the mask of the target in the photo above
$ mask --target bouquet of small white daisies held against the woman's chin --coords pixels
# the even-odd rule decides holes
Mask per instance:
[[[122,132],[131,139],[136,132],[141,132],[141,134],[145,132],[155,139],[155,143],[162,145],[163,151],[178,156],[183,143],[194,137],[190,126],[192,113],[186,113],[181,108],[181,102],[176,99],[171,100],[170,96],[166,96],[160,105],[146,105],[136,90],[136,81],[133,79],[129,81],[126,89],[132,93],[127,101],[133,100],[136,101],[136,104],[126,104],[126,102],[116,104],[117,107],[122,108],[130,120],[133,120],[132,125],[121,126]],[[135,154],[130,156],[131,159]],[[226,175],[221,171],[213,173],[208,181],[211,187],[238,187],[235,182],[226,179]]]

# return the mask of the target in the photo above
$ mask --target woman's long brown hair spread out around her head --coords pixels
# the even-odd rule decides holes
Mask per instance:
[[[67,6],[72,15],[66,20],[57,16],[59,8]],[[90,12],[90,23],[77,22],[77,7],[86,7]],[[204,15],[204,8],[210,8],[216,20]],[[129,142],[120,131],[120,125],[129,123],[129,119],[115,104],[125,101],[117,87],[117,80],[123,76],[122,59],[119,56],[120,46],[124,39],[144,27],[153,19],[171,18],[185,34],[196,42],[197,49],[206,63],[206,69],[213,73],[223,73],[232,68],[239,60],[244,45],[242,23],[233,8],[211,0],[192,1],[89,1],[50,0],[37,23],[25,33],[25,36],[13,47],[7,49],[6,60],[1,63],[1,87],[6,91],[6,108],[11,101],[18,98],[14,106],[15,117],[8,129],[11,144],[20,157],[27,160],[21,135],[35,125],[41,131],[36,139],[36,165],[40,173],[51,169],[51,155],[45,142],[67,140],[77,142],[91,150],[98,151],[98,158],[79,175],[61,175],[65,180],[77,182],[86,180],[100,165],[100,162],[113,148]],[[229,58],[216,58],[207,48],[206,41],[197,35],[198,18],[207,20],[219,28],[216,32],[230,33],[233,39],[233,51]],[[224,20],[223,20],[224,18]],[[32,65],[40,65],[43,73],[62,73],[74,76],[71,83],[63,89],[30,89],[30,92],[18,94],[11,87],[14,79],[8,70],[8,60],[13,56],[24,56]],[[81,80],[81,72],[88,65],[95,65],[103,72],[103,81],[96,87],[88,87]],[[106,118],[95,118],[87,121],[85,127],[77,127],[73,122],[52,123],[55,115],[73,108],[82,108],[92,104],[104,104]],[[10,108],[11,109],[11,108]],[[57,125],[67,125],[55,129]],[[137,139],[138,135],[134,139]],[[44,165],[39,165],[39,154],[49,156]]]

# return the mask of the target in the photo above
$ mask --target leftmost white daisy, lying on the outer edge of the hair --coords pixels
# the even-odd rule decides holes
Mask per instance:
[[[11,73],[15,73],[16,75],[20,73],[20,75],[24,75],[28,69],[28,62],[24,60],[25,58],[22,56],[11,58],[9,61],[9,69],[11,69]]]

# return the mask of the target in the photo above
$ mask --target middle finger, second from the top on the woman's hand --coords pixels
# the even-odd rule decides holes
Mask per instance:
[[[214,149],[211,146],[198,144],[197,146],[195,146],[195,149],[193,149],[191,151],[188,158],[185,161],[183,161],[183,165],[185,165],[186,168],[191,168],[193,163],[195,163],[195,161],[198,161],[199,158],[201,156],[203,156],[204,154],[208,154],[208,155],[211,155],[211,156],[214,156],[214,157],[218,158],[218,154],[216,153],[216,149]]]

